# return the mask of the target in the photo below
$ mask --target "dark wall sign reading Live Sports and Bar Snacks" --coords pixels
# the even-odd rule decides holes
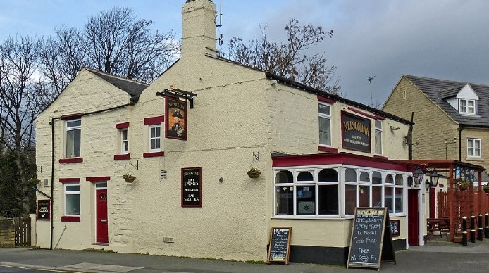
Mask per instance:
[[[202,207],[202,167],[182,168],[182,207]]]

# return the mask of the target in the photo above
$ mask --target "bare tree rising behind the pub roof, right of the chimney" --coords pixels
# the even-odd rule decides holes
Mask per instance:
[[[243,65],[270,72],[310,87],[340,94],[339,78],[335,77],[336,67],[327,65],[324,53],[307,56],[310,46],[326,37],[333,37],[333,30],[325,32],[321,26],[299,26],[296,19],[285,25],[287,42],[278,44],[268,40],[266,25],[260,27],[261,37],[255,37],[249,44],[233,37],[228,43],[227,57]]]

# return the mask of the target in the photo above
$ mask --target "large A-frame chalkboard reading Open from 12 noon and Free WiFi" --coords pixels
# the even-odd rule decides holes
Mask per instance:
[[[380,260],[395,263],[388,210],[355,208],[347,268],[368,267],[379,270]]]

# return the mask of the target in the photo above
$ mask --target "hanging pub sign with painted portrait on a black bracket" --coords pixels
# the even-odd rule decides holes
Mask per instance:
[[[166,98],[166,138],[187,140],[187,101]]]

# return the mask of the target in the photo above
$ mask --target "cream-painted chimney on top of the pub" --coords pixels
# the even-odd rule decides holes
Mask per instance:
[[[187,0],[182,24],[182,58],[216,55],[216,5],[211,0]]]

